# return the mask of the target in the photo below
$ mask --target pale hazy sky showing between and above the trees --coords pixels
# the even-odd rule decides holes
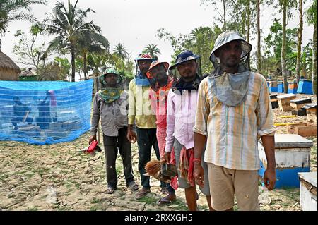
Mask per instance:
[[[67,0],[61,0],[67,4]],[[49,0],[45,6],[33,6],[33,14],[40,21],[45,18],[45,13],[50,13],[56,1]],[[71,0],[74,4],[75,0]],[[222,11],[221,1],[217,3]],[[155,35],[158,28],[165,28],[172,35],[189,34],[199,26],[213,26],[216,11],[211,4],[201,4],[201,0],[79,0],[78,8],[91,8],[95,13],[88,13],[86,21],[93,20],[95,25],[102,28],[104,35],[110,42],[110,50],[118,43],[122,43],[134,59],[148,44],[157,44],[161,51],[160,61],[172,61],[173,53],[170,43],[160,40]],[[264,38],[269,33],[272,23],[271,14],[275,10],[272,6],[261,7],[261,36]],[[288,28],[298,25],[298,13],[288,23]],[[279,13],[276,18],[281,18]],[[14,37],[16,30],[21,29],[28,33],[30,23],[14,21],[9,24],[8,32],[1,37],[1,51],[7,54],[18,66],[25,67],[18,62],[18,57],[13,54],[13,46],[18,38]],[[220,27],[222,24],[218,24]],[[313,28],[304,24],[302,46],[312,39]],[[52,37],[45,37],[49,42]],[[42,39],[39,40],[42,42]],[[40,44],[40,43],[39,43]],[[253,49],[257,49],[256,36],[251,41]],[[66,56],[70,58],[70,56]]]

